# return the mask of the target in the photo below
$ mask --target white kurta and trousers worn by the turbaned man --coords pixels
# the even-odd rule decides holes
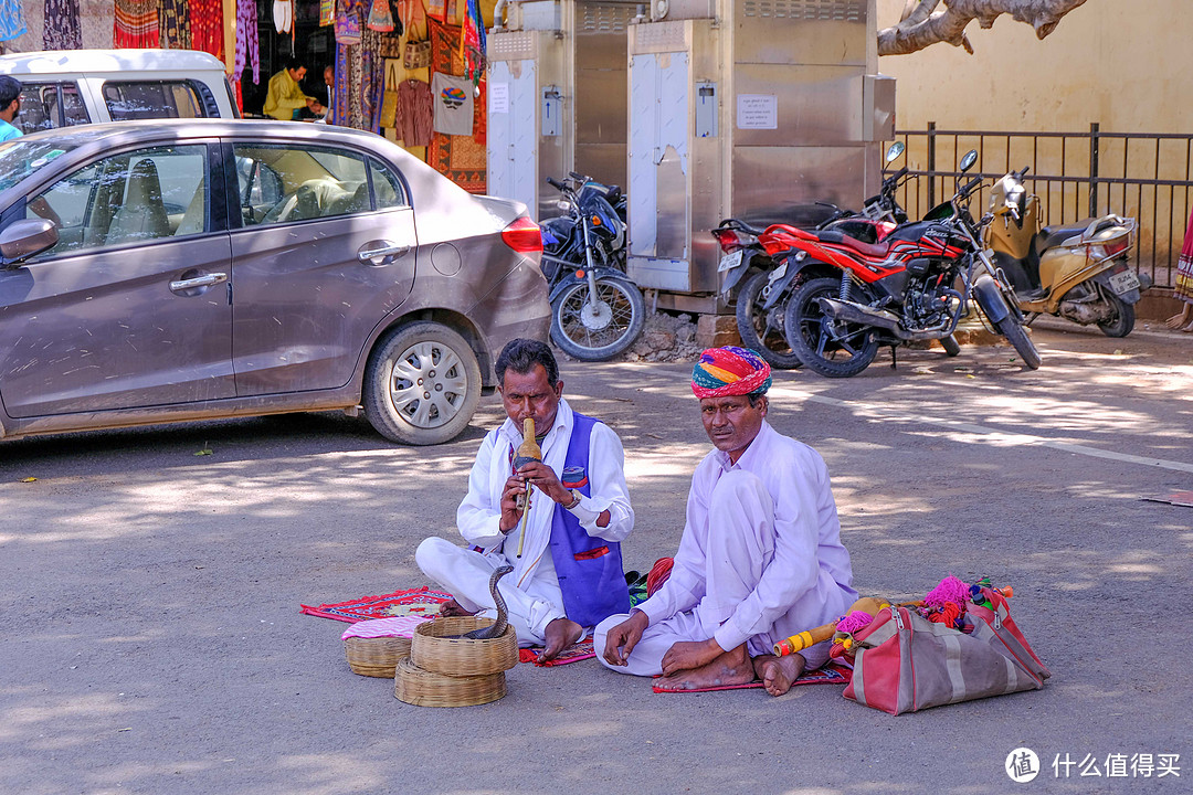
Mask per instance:
[[[752,657],[804,629],[834,621],[858,598],[849,553],[820,453],[769,423],[736,464],[712,451],[697,466],[687,523],[670,577],[636,609],[650,619],[625,667],[604,659],[605,635],[628,615],[596,627],[598,658],[614,671],[654,676],[676,641],[716,638]],[[828,645],[804,651],[808,667]]]

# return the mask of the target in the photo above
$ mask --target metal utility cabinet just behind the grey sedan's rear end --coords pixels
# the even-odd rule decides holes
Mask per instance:
[[[625,185],[626,27],[635,4],[511,2],[488,37],[488,192],[560,215],[548,176]]]

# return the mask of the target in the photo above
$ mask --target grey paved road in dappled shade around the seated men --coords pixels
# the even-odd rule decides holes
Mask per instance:
[[[298,604],[426,584],[414,547],[453,536],[495,399],[432,449],[335,415],[97,433],[0,448],[0,791],[1188,791],[1193,508],[1143,498],[1193,490],[1193,340],[1036,339],[1038,372],[966,347],[783,373],[771,418],[828,461],[859,590],[1013,585],[1041,691],[894,718],[836,687],[653,695],[586,662],[410,707]],[[673,552],[709,447],[688,367],[564,367],[629,453],[629,567]],[[1003,772],[1019,746],[1030,784]],[[1181,777],[1105,777],[1135,753],[1179,753]],[[1104,777],[1058,778],[1064,754]]]

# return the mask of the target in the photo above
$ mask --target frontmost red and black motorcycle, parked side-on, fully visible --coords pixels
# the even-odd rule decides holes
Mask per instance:
[[[879,346],[891,350],[917,340],[950,339],[970,302],[976,303],[1031,369],[1039,353],[1022,328],[1014,291],[982,246],[969,199],[982,185],[960,184],[977,151],[962,159],[957,190],[923,221],[904,223],[877,244],[839,231],[796,230],[798,253],[787,259],[802,277],[787,302],[787,343],[810,369],[829,378],[855,375]],[[954,284],[962,290],[954,290]],[[956,343],[953,343],[956,344]]]

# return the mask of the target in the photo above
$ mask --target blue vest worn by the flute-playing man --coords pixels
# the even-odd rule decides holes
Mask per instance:
[[[588,443],[596,420],[579,411],[573,411],[573,417],[560,482],[565,489],[589,497]],[[630,611],[630,589],[622,571],[622,545],[588,535],[571,511],[556,504],[550,546],[569,619],[591,627],[613,614]]]

